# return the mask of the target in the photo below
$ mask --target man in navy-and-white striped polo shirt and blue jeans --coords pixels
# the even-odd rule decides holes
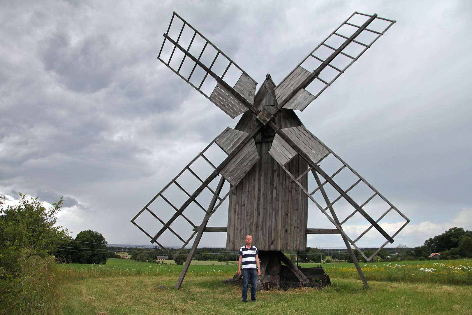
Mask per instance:
[[[237,274],[243,272],[243,302],[247,302],[247,285],[251,278],[251,301],[256,301],[257,276],[261,275],[261,266],[259,265],[259,252],[252,246],[253,237],[246,235],[246,245],[239,250],[239,262]],[[242,264],[242,267],[241,267]]]

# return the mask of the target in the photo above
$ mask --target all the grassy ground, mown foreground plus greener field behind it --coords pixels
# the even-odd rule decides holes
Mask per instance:
[[[195,263],[180,290],[174,286],[182,266],[175,264],[109,259],[106,265],[59,265],[52,314],[472,315],[471,260],[363,264],[370,290],[353,264],[324,264],[332,286],[261,291],[255,303],[241,303],[241,288],[222,284],[236,265]]]

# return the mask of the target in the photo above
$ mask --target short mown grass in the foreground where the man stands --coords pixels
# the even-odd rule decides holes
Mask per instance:
[[[241,289],[219,276],[187,276],[180,290],[172,276],[83,279],[63,285],[54,314],[472,314],[470,286],[333,280],[329,288],[258,292],[241,303]],[[171,289],[158,289],[159,285]]]

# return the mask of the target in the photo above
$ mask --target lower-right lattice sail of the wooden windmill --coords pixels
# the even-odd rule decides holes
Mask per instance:
[[[388,242],[393,242],[393,237],[395,237],[396,234],[398,234],[410,221],[393,204],[391,204],[384,196],[382,196],[374,187],[372,187],[365,179],[363,179],[355,170],[353,170],[349,165],[347,165],[346,162],[341,160],[335,153],[329,150],[326,145],[324,145],[316,136],[313,136],[312,133],[305,129],[303,126],[279,129],[277,135],[274,138],[269,153],[278,162],[278,164],[288,173],[288,175],[292,177],[295,183],[303,189],[306,196],[308,196],[308,198],[311,199],[312,202],[320,208],[321,212],[327,216],[329,221],[331,221],[336,226],[339,232],[343,234],[344,237],[346,237],[346,239],[361,253],[361,255],[367,261],[377,255],[379,250],[382,249],[385,245],[387,245]],[[302,176],[298,176],[298,178],[295,178],[295,176],[293,176],[290,171],[285,168],[285,165],[299,154],[303,158],[305,158],[305,160],[309,164],[309,169],[305,173],[303,173],[302,176],[311,170],[313,176],[315,177],[315,179],[317,179],[317,182],[319,182],[318,174],[321,175],[321,179],[325,179],[324,182],[319,182],[318,187],[316,187],[316,189],[314,189],[312,192],[308,192],[303,187],[302,183],[300,183],[299,179]],[[332,154],[335,159],[337,159],[337,161],[341,164],[341,167],[336,170],[332,175],[326,174],[323,170],[321,170],[319,165],[319,163],[323,159],[325,159],[329,154]],[[355,178],[351,180],[350,184],[352,185],[347,189],[343,189],[337,184],[336,176],[343,170],[345,173],[346,171],[349,172],[349,174]],[[318,174],[316,174],[315,172]],[[366,197],[362,200],[362,203],[359,202],[358,198],[351,196],[351,192],[357,185],[363,185],[364,188],[371,191],[371,194],[365,195]],[[331,199],[331,201],[328,201],[328,196],[325,194],[325,190],[327,190],[328,188],[331,191],[337,191],[338,193],[338,195]],[[316,192],[319,191],[321,191],[322,196],[319,195],[317,199],[314,195]],[[377,220],[372,219],[368,211],[364,210],[366,207],[371,206],[371,204],[369,203],[372,203],[372,200],[375,197],[380,197],[381,200],[376,200],[375,202],[377,204],[375,204],[374,207],[378,208],[379,202],[387,206],[382,211],[382,213],[378,213],[379,218]],[[357,199],[357,202],[354,199]],[[333,210],[333,206],[335,206],[336,203],[339,203],[340,200],[346,202],[343,205],[344,208],[346,208],[346,204],[350,204],[351,209],[353,210],[353,212],[346,215],[346,218],[341,222],[337,220],[336,214]],[[323,202],[325,202],[327,205],[321,206]],[[328,210],[331,211],[331,215],[327,212]],[[405,223],[398,230],[396,230],[393,235],[389,235],[382,227],[380,227],[379,224],[388,223],[388,221],[382,221],[382,219],[384,219],[385,216],[392,210],[399,214],[405,220]],[[356,214],[361,214],[368,221],[370,226],[364,229],[361,233],[355,235],[356,238],[354,238],[350,237],[346,233],[346,231],[343,230],[342,226]],[[386,238],[386,242],[373,255],[371,255],[371,257],[367,257],[356,245],[356,242],[358,242],[362,237],[364,237],[372,228],[378,230],[379,235],[382,235],[384,238]]]

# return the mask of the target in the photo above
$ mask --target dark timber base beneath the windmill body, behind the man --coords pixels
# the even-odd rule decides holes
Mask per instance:
[[[320,289],[331,285],[329,275],[321,265],[312,268],[297,267],[280,251],[259,251],[259,259],[261,275],[257,278],[257,291],[300,286]],[[282,265],[282,262],[285,265]],[[236,273],[233,279],[225,279],[223,283],[242,286],[242,276]]]

